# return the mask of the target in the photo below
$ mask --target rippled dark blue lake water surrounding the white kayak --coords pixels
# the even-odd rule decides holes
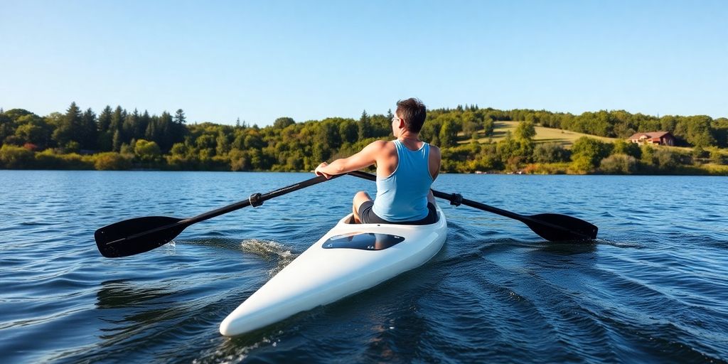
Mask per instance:
[[[0,170],[3,363],[728,361],[728,178],[441,175],[435,189],[563,213],[596,242],[440,202],[448,238],[376,288],[232,339],[218,325],[349,212],[342,177],[103,258],[93,232],[189,217],[304,173]]]

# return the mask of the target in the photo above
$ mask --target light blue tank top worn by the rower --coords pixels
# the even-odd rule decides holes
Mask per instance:
[[[426,218],[427,193],[432,186],[430,175],[430,144],[411,151],[400,142],[397,147],[397,167],[387,178],[376,176],[376,199],[372,211],[390,222],[417,221]]]

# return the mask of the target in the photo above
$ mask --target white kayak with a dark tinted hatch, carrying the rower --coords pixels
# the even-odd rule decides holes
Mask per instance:
[[[440,251],[447,223],[440,207],[431,225],[352,223],[342,218],[220,324],[234,336],[330,304],[421,266]]]

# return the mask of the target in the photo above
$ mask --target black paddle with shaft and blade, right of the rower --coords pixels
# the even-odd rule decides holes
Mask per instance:
[[[349,172],[349,175],[364,178],[369,181],[376,181],[376,175],[358,170]],[[538,215],[530,216],[520,215],[518,213],[499,209],[498,207],[492,207],[480,202],[471,201],[470,199],[464,199],[461,194],[446,194],[440,191],[435,191],[434,189],[432,190],[432,194],[434,194],[435,197],[447,199],[450,201],[451,205],[459,206],[462,204],[521,221],[529,226],[529,228],[538,234],[539,237],[552,242],[596,239],[596,233],[598,231],[598,228],[593,224],[568,215],[561,215],[558,213],[539,213]]]

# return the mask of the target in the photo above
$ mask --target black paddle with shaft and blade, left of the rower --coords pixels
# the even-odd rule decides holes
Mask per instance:
[[[338,175],[332,178],[339,177]],[[104,226],[96,230],[94,237],[96,246],[101,255],[106,258],[119,258],[122,256],[133,256],[144,253],[154,248],[159,248],[167,242],[172,241],[187,226],[193,223],[205,221],[208,218],[240,210],[242,207],[260,206],[264,201],[279,197],[289,192],[298,191],[314,184],[328,181],[325,177],[317,176],[303,182],[268,192],[266,194],[252,194],[244,201],[235,202],[232,205],[220,207],[192,218],[168,218],[165,216],[147,216],[143,218],[132,218]]]

